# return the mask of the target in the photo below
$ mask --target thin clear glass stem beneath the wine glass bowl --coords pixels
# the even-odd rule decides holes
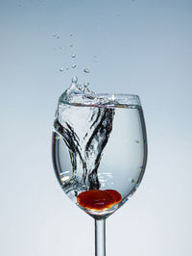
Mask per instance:
[[[95,219],[95,256],[106,256],[106,219]]]

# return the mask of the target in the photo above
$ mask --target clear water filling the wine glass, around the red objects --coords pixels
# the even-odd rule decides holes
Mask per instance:
[[[147,160],[146,132],[138,105],[113,107],[59,103],[53,163],[62,190],[86,213],[107,218],[138,187]],[[81,192],[114,190],[122,200],[96,211],[78,204]]]

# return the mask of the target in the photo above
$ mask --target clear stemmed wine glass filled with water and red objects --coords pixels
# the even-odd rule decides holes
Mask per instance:
[[[66,94],[66,93],[65,93]],[[95,219],[95,255],[106,255],[106,218],[130,198],[147,161],[147,138],[138,95],[61,95],[52,156],[60,186]]]

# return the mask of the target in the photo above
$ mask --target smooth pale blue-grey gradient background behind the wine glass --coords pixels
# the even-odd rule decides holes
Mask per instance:
[[[57,100],[78,76],[139,94],[147,124],[146,173],[108,218],[107,254],[191,256],[192,1],[0,0],[0,45],[0,255],[94,255],[93,219],[51,162]]]

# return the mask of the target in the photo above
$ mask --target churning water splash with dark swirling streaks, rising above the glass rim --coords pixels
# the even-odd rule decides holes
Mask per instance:
[[[84,103],[84,97],[92,101],[95,95],[87,87],[88,83],[81,86],[77,77],[72,78],[70,88],[60,96],[54,123],[56,138],[67,146],[73,168],[69,180],[64,180],[62,188],[65,192],[100,188],[97,170],[112,130],[115,112],[113,108],[82,108],[77,98]],[[70,105],[63,104],[66,102]]]

